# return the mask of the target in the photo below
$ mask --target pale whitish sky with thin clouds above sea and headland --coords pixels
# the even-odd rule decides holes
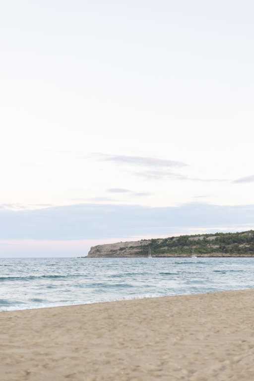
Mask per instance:
[[[254,3],[0,5],[0,256],[254,228]]]

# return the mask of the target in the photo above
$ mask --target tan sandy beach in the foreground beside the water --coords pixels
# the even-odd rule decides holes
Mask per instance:
[[[0,313],[1,381],[254,380],[254,291]]]

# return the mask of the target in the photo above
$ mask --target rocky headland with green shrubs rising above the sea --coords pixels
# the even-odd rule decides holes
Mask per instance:
[[[216,233],[94,246],[88,257],[254,256],[254,231]]]

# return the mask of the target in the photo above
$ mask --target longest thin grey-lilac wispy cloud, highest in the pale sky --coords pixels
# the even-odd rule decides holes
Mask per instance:
[[[102,161],[110,161],[117,164],[128,164],[142,167],[186,167],[187,164],[181,161],[158,159],[154,157],[126,156],[126,155],[106,155],[96,154]]]

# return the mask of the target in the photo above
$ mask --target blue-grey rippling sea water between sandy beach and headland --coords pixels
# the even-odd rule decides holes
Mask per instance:
[[[254,258],[0,259],[0,311],[254,288]]]

